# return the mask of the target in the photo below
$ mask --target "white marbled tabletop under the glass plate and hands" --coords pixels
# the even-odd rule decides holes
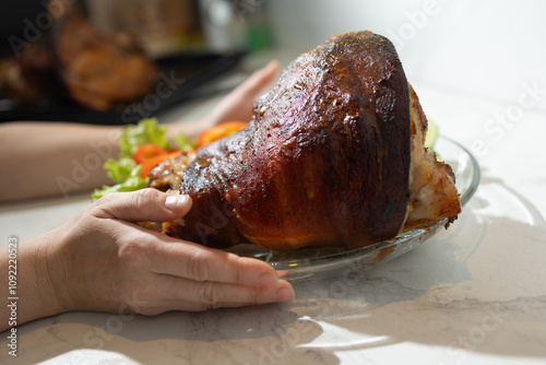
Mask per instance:
[[[529,106],[546,95],[522,96],[523,106],[414,86],[440,133],[482,166],[480,186],[450,229],[370,271],[297,282],[290,304],[36,320],[19,327],[16,358],[1,334],[0,363],[546,363],[546,116]],[[213,102],[164,121],[202,115]],[[88,203],[82,195],[0,205],[1,245],[61,225]]]

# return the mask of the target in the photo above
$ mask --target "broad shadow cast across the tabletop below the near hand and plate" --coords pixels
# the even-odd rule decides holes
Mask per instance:
[[[336,352],[361,357],[358,351],[404,342],[440,349],[440,362],[462,362],[470,352],[546,357],[539,342],[546,283],[534,274],[544,266],[531,260],[544,252],[545,236],[544,219],[531,202],[484,178],[449,231],[370,271],[296,282],[292,304],[155,317],[66,314],[52,318],[54,326],[43,319],[22,327],[19,358],[339,364]]]

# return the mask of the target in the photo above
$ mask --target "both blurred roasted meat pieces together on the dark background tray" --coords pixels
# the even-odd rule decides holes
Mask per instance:
[[[128,34],[102,35],[75,14],[0,63],[0,89],[14,103],[39,106],[69,97],[95,110],[122,109],[142,99],[158,70]]]

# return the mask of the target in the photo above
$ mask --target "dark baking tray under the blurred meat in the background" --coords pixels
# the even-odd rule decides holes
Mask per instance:
[[[121,110],[97,111],[62,98],[41,106],[17,106],[1,101],[0,122],[15,120],[74,121],[94,125],[135,123],[141,117],[152,117],[168,108],[202,96],[199,89],[228,73],[245,56],[244,51],[229,55],[177,55],[157,60],[162,92],[152,91],[142,101]],[[174,80],[173,80],[174,78]],[[171,80],[170,85],[164,80]],[[181,81],[183,80],[183,82]],[[147,98],[146,98],[147,97]]]

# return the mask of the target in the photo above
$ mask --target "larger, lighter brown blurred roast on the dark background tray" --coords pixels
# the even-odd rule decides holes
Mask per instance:
[[[124,107],[152,91],[155,63],[127,34],[104,36],[78,15],[52,32],[54,56],[69,94],[92,109]]]

